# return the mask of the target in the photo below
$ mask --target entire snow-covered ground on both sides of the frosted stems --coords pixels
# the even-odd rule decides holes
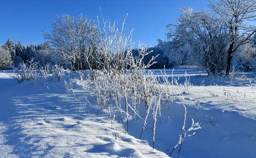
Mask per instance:
[[[184,75],[185,72],[187,75]],[[154,73],[161,75],[159,70]],[[143,121],[126,122],[108,110],[97,116],[96,97],[75,83],[74,72],[61,81],[25,81],[18,84],[0,71],[0,157],[169,157],[186,126],[201,123],[202,129],[185,137],[179,157],[254,157],[256,155],[256,82],[253,73],[233,81],[212,79],[199,70],[166,70],[185,76],[190,93],[163,106],[156,124],[155,149],[149,121],[139,139]],[[66,81],[73,88],[66,89]],[[69,84],[70,85],[70,84]],[[140,110],[143,117],[143,108]],[[112,116],[113,117],[113,116]],[[115,126],[115,127],[114,127]],[[115,139],[116,134],[116,139]],[[178,155],[178,147],[172,157]]]

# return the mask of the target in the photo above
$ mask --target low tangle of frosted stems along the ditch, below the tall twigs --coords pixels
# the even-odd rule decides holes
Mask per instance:
[[[163,73],[163,78],[160,78],[151,71],[146,71],[146,68],[155,63],[153,57],[148,64],[144,64],[143,58],[149,53],[147,48],[141,47],[138,56],[130,57],[129,70],[120,71],[111,68],[110,70],[94,71],[94,75],[87,78],[88,80],[80,80],[77,83],[83,85],[87,92],[97,97],[98,113],[99,110],[109,108],[111,119],[113,113],[114,115],[116,112],[120,113],[122,120],[127,122],[127,132],[130,118],[133,117],[133,120],[140,118],[144,122],[142,136],[145,126],[151,118],[154,148],[156,122],[161,122],[161,106],[169,106],[169,102],[173,101],[174,97],[182,101],[180,95],[189,94],[191,84],[189,80],[186,80],[184,84],[180,85],[174,78],[172,78],[172,82],[169,82],[165,73]],[[143,112],[145,117],[140,114],[140,106],[143,103],[147,109],[146,112]]]

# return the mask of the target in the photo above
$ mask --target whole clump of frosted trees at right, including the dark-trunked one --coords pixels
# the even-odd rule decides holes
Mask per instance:
[[[253,52],[256,26],[251,22],[256,20],[256,0],[216,0],[209,7],[210,13],[183,8],[178,24],[167,26],[169,41],[160,41],[160,45],[171,62],[229,74],[231,63],[245,65],[242,61],[249,61]],[[245,55],[248,50],[250,55]]]

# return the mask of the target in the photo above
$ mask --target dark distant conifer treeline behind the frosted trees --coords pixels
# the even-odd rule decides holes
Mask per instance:
[[[132,50],[132,54],[134,57],[139,57],[140,48],[135,48]],[[57,61],[54,59],[54,56],[51,55],[50,45],[46,42],[40,43],[38,45],[30,44],[30,45],[22,45],[19,41],[18,43],[14,43],[12,40],[8,39],[7,42],[3,46],[0,45],[0,54],[1,54],[1,66],[0,69],[8,69],[15,68],[19,63],[26,63],[27,61],[34,58],[34,62],[38,62],[41,66],[44,66],[47,63],[56,64]],[[147,49],[149,55],[143,58],[143,63],[147,65],[150,63],[152,57],[157,56],[155,61],[157,63],[151,65],[150,69],[157,68],[169,68],[174,64],[169,63],[169,58],[164,54],[159,46],[149,47]],[[57,63],[58,64],[58,63]]]

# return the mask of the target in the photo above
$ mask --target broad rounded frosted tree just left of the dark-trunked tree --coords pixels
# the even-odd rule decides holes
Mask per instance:
[[[209,73],[220,73],[227,63],[226,27],[214,14],[192,8],[181,11],[178,25],[167,26],[170,42],[162,43],[162,49],[179,64],[200,65]]]

